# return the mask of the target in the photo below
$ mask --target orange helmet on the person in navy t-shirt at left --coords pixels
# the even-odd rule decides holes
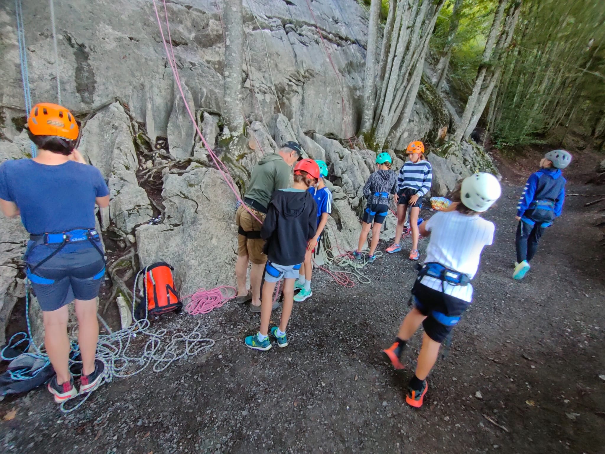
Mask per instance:
[[[68,140],[76,140],[80,132],[71,112],[50,102],[39,102],[31,108],[27,127],[34,136],[55,136]]]

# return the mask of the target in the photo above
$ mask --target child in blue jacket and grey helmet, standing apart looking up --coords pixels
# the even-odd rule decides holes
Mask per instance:
[[[532,173],[517,205],[518,220],[517,263],[512,277],[520,280],[529,271],[529,261],[538,249],[538,241],[544,229],[552,224],[563,211],[565,183],[561,169],[571,162],[571,154],[565,150],[553,150],[540,161],[540,170]]]

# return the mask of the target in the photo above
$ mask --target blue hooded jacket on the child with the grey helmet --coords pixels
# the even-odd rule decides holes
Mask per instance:
[[[519,198],[517,216],[523,217],[528,209],[534,209],[537,200],[552,202],[555,216],[560,216],[563,212],[566,183],[560,169],[543,168],[532,173]]]

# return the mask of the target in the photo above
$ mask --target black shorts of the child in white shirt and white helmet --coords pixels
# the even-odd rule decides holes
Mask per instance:
[[[427,318],[422,322],[424,332],[435,342],[442,343],[452,331],[454,324],[443,324],[436,317],[443,314],[446,317],[460,317],[471,303],[447,295],[439,290],[431,289],[419,281],[412,288],[414,307]]]

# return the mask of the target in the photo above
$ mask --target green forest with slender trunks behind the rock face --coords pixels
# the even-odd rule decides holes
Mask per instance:
[[[366,91],[361,132],[371,133],[379,145],[396,139],[396,125],[407,122],[411,97],[415,99],[414,84],[420,83],[414,63],[424,63],[426,58],[436,69],[432,82],[437,90],[448,89],[466,104],[454,133],[457,141],[468,138],[478,125],[502,149],[563,142],[568,131],[605,148],[605,2],[363,3],[370,10],[368,47],[372,45],[376,53],[372,57],[368,51],[368,66],[374,58],[373,74],[382,93]],[[377,36],[382,36],[382,49],[379,39],[372,39],[373,25]],[[411,31],[404,33],[406,28]],[[419,32],[417,37],[414,30]],[[425,57],[422,35],[427,33]],[[392,44],[401,50],[401,61],[397,61],[397,51],[389,58]],[[396,90],[388,93],[389,82],[393,87],[404,84],[407,94],[414,96],[406,102],[406,93],[399,97]]]

